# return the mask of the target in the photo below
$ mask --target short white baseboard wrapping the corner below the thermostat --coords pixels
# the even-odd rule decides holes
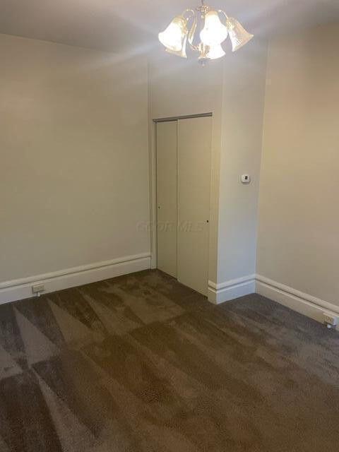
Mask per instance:
[[[214,304],[229,302],[232,299],[253,294],[255,289],[256,275],[247,275],[220,284],[208,281],[208,301]]]

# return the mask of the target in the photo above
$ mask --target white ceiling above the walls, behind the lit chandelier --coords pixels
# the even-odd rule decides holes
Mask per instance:
[[[151,49],[157,32],[200,0],[0,0],[0,32],[122,52]],[[339,20],[339,0],[210,0],[256,35]]]

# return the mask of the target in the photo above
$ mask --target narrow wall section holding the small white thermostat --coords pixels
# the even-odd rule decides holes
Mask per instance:
[[[227,53],[222,94],[218,283],[256,273],[258,186],[267,44]],[[251,184],[240,182],[250,174]],[[253,282],[254,286],[254,282]]]

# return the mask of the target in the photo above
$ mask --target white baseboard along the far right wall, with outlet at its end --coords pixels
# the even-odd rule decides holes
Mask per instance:
[[[339,316],[339,307],[292,287],[256,275],[256,293],[323,323],[323,312]],[[337,328],[338,329],[338,328]]]

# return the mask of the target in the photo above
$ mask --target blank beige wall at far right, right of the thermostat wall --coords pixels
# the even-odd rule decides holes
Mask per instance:
[[[339,25],[270,44],[259,275],[339,305]]]

